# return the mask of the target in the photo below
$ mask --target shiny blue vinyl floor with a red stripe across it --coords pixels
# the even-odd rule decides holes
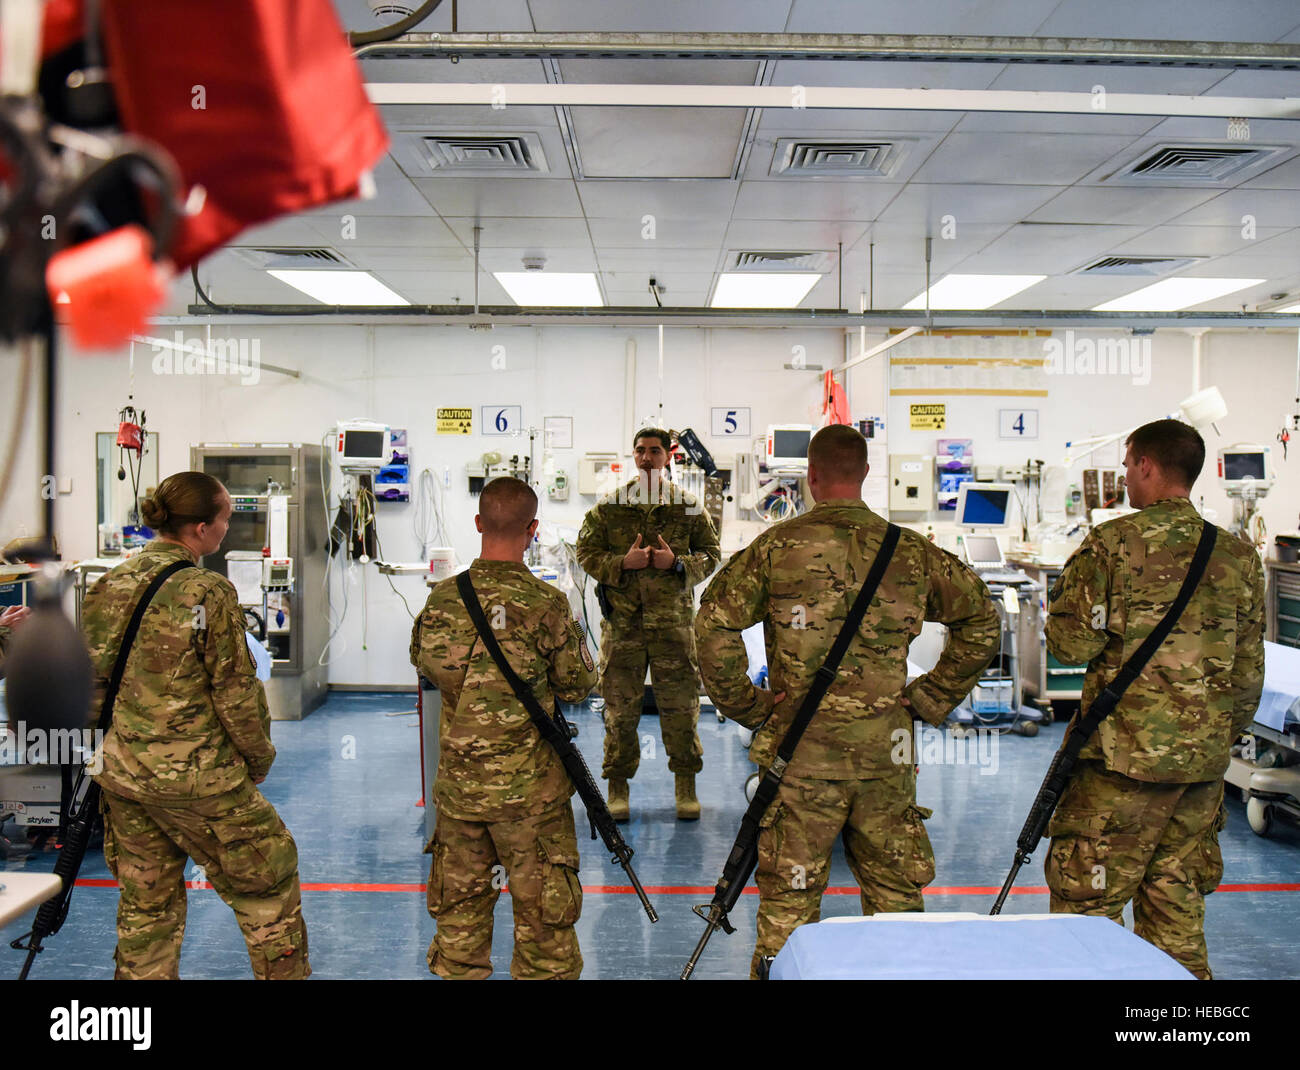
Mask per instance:
[[[317,978],[430,976],[425,952],[433,922],[419,887],[428,874],[428,857],[421,853],[424,810],[416,806],[420,745],[413,709],[410,694],[333,693],[306,720],[273,727],[280,758],[263,790],[298,841],[303,913]],[[601,722],[586,707],[577,709],[573,719],[581,729],[578,744],[598,771]],[[918,801],[935,811],[928,822],[936,857],[936,879],[926,897],[931,910],[988,911],[1061,732],[1056,724],[1036,738],[998,737],[994,775],[982,775],[974,764],[922,766]],[[632,781],[633,818],[623,828],[636,850],[637,874],[651,888],[662,920],[650,926],[627,891],[599,891],[604,885],[625,889],[627,880],[599,842],[585,839],[581,805],[576,803],[582,883],[590,889],[578,922],[584,978],[589,979],[677,976],[703,924],[690,907],[708,900],[745,809],[741,785],[753,766],[734,724],[719,724],[707,711],[701,716],[705,771],[698,794],[705,813],[694,823],[673,816],[672,776],[658,719],[645,718],[641,733],[644,740],[650,737],[644,748],[647,757]],[[3,832],[22,840],[13,822]],[[1261,839],[1251,832],[1235,797],[1230,797],[1222,848],[1226,885],[1300,881],[1300,828],[1275,826],[1270,839]],[[1022,871],[1019,885],[1043,885],[1044,850],[1040,846]],[[52,853],[16,850],[0,868],[49,871],[53,862]],[[108,876],[103,855],[88,855],[82,878]],[[852,887],[837,848],[831,889]],[[243,940],[225,904],[202,888],[188,893],[188,904],[182,976],[250,976]],[[116,906],[113,888],[78,888],[69,920],[40,956],[35,975],[112,976]],[[748,974],[755,907],[757,896],[741,898],[733,914],[737,932],[714,937],[697,978]],[[1206,937],[1216,975],[1300,978],[1297,907],[1300,893],[1294,891],[1225,889],[1212,896]],[[1046,894],[1034,892],[1014,894],[1006,905],[1006,913],[1046,909]],[[857,913],[857,894],[841,891],[823,901],[824,917]],[[17,975],[21,956],[8,949],[8,941],[22,931],[20,923],[0,930],[0,976],[9,970]],[[495,976],[508,976],[510,954],[510,897],[503,896],[493,943]],[[3,956],[9,956],[8,969]]]

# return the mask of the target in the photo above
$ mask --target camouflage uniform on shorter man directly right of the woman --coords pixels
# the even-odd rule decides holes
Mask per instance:
[[[542,709],[586,698],[595,666],[568,599],[521,562],[478,558],[469,569],[502,651]],[[442,693],[438,823],[425,846],[438,926],[429,969],[443,978],[491,975],[493,907],[508,880],[511,975],[577,978],[573,785],[480,641],[454,579],[429,593],[411,632],[411,664]]]

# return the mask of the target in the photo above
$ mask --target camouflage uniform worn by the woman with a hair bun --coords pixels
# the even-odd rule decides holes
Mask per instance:
[[[150,581],[182,559],[194,555],[155,540],[87,592],[92,720],[133,608]],[[178,975],[186,857],[235,911],[256,978],[311,972],[298,849],[254,785],[274,757],[234,588],[205,568],[179,572],[144,614],[95,777],[104,792],[104,858],[121,885],[118,978]]]

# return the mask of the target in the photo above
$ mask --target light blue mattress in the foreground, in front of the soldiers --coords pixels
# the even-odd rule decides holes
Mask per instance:
[[[1193,980],[1109,918],[881,914],[797,928],[774,980]]]

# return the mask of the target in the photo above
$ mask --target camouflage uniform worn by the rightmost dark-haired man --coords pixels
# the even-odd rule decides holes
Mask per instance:
[[[1115,677],[1174,601],[1201,534],[1187,498],[1166,498],[1096,528],[1050,594],[1048,649],[1088,663],[1082,709]],[[1264,686],[1264,568],[1219,530],[1170,637],[1080,753],[1048,828],[1052,910],[1119,922],[1200,978],[1204,896],[1223,861],[1223,772]]]

